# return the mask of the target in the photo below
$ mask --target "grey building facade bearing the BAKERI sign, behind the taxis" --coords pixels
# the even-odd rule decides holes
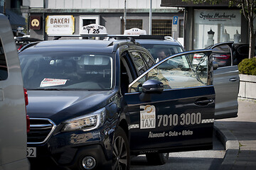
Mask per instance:
[[[150,0],[126,1],[126,29],[140,28],[149,34]],[[160,0],[152,1],[151,34],[182,40],[183,10],[160,4]],[[29,18],[29,33],[33,38],[50,40],[48,35],[53,33],[78,35],[82,26],[90,23],[105,26],[110,35],[124,33],[124,0],[23,0],[21,11]]]

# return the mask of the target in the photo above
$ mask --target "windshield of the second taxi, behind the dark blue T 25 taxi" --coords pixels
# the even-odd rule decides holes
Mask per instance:
[[[149,50],[151,55],[154,57],[156,62],[163,60],[165,57],[170,55],[175,55],[179,52],[183,52],[182,48],[178,45],[152,45],[152,44],[143,44],[140,42],[142,47]]]

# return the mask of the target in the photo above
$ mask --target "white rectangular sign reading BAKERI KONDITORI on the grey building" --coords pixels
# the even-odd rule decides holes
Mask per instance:
[[[47,16],[46,33],[48,35],[72,35],[75,32],[73,16]]]

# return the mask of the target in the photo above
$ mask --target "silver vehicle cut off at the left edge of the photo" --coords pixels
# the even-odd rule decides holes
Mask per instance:
[[[26,132],[29,126],[26,123],[25,93],[11,25],[6,16],[0,14],[1,170],[29,169],[26,158]]]

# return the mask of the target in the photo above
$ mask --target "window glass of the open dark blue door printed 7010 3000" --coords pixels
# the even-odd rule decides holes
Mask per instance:
[[[203,61],[198,64],[198,67],[192,69],[189,58],[193,57],[193,55],[171,57],[134,82],[128,91],[130,93],[142,91],[142,84],[148,79],[161,81],[165,90],[206,86],[208,81],[208,57],[204,55]]]

